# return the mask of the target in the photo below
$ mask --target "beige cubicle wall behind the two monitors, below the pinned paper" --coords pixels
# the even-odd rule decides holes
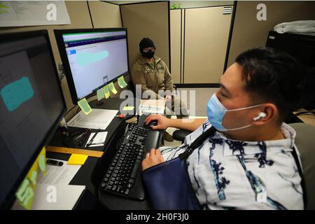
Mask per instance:
[[[15,32],[15,31],[32,31],[47,29],[50,42],[52,44],[52,52],[55,57],[55,62],[58,65],[61,62],[59,56],[59,50],[57,48],[57,43],[55,40],[55,35],[53,29],[81,29],[81,28],[93,28],[94,27],[121,27],[120,20],[120,10],[119,6],[101,2],[101,1],[65,1],[66,9],[69,13],[69,18],[71,20],[71,25],[53,25],[53,26],[33,26],[33,27],[5,27],[0,28],[0,34]],[[91,11],[91,16],[89,13],[89,6]],[[119,90],[119,87],[116,85],[116,89]],[[66,78],[62,79],[62,91],[64,93],[64,98],[66,100],[66,106],[68,109],[71,109],[73,106],[71,95],[69,92],[68,84],[66,83]],[[116,94],[116,96],[119,96]],[[94,97],[92,97],[94,99]],[[92,100],[91,99],[91,100]],[[68,114],[68,118],[73,116],[73,113],[76,113],[76,110],[71,111],[72,113]]]

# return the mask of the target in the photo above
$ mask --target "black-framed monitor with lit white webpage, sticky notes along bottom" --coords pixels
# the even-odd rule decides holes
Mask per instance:
[[[127,29],[63,29],[55,37],[73,104],[129,73]]]

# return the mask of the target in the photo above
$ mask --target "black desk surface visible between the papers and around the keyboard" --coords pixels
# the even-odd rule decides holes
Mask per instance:
[[[125,101],[125,99],[119,99],[119,98],[112,98],[112,99],[106,99],[104,100],[104,104],[102,106],[97,106],[97,100],[90,102],[90,106],[92,109],[118,109],[120,108],[120,104]],[[106,142],[111,139],[112,135],[115,133],[118,125],[122,123],[123,120],[120,118],[114,118],[110,125],[106,128],[106,132],[108,132],[106,137]],[[76,130],[80,130],[76,127],[69,127],[69,132],[76,132]],[[62,135],[59,131],[57,131],[52,137],[52,140],[50,141],[50,146],[64,146],[62,143]],[[102,151],[103,148],[99,147],[96,148],[98,151]],[[106,153],[104,153],[103,156],[106,156]],[[64,154],[64,153],[52,153],[47,152],[48,158],[54,158],[58,160],[69,160],[70,154]],[[71,185],[84,185],[88,190],[90,190],[91,193],[94,193],[95,197],[99,197],[99,200],[105,205],[105,207],[109,209],[150,209],[150,203],[148,200],[144,201],[134,201],[129,200],[124,197],[118,197],[115,195],[109,195],[106,193],[98,193],[97,187],[94,186],[92,182],[92,174],[94,172],[94,168],[97,166],[97,162],[99,161],[99,158],[94,157],[88,157],[85,161],[85,164],[78,170],[78,173],[74,178],[71,180]]]

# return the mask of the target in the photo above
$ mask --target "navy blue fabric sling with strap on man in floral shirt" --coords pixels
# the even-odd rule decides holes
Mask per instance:
[[[153,209],[197,210],[202,209],[195,196],[187,172],[186,159],[207,137],[215,132],[214,127],[204,132],[181,153],[179,157],[150,167],[142,173]]]

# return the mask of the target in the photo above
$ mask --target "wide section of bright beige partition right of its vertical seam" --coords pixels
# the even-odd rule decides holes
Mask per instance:
[[[185,10],[183,83],[218,83],[223,73],[232,15],[232,9],[224,14],[224,8]]]

